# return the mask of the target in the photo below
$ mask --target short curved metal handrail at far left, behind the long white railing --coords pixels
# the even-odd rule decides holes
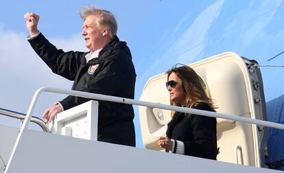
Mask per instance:
[[[5,109],[5,108],[0,108],[0,115],[5,115],[5,116],[8,116],[8,117],[14,117],[16,119],[22,119],[22,120],[25,119],[25,114],[18,113],[18,112],[15,112],[15,111],[10,111],[10,110]],[[31,122],[38,124],[38,126],[40,126],[40,128],[42,128],[44,132],[49,132],[49,128],[47,127],[45,122],[43,122],[42,119],[32,116]]]

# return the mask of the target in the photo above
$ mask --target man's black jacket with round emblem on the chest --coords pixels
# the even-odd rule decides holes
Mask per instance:
[[[29,43],[54,73],[74,81],[72,90],[134,98],[136,73],[132,56],[126,42],[119,41],[117,36],[99,52],[98,58],[87,63],[88,52],[64,52],[43,34]],[[69,95],[60,103],[67,110],[88,100]],[[98,140],[135,146],[133,118],[132,105],[99,101]]]

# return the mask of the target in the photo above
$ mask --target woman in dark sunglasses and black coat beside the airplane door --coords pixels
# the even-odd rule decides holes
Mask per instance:
[[[171,105],[215,111],[193,69],[187,66],[175,67],[166,73]],[[167,137],[160,137],[157,141],[161,148],[177,154],[216,159],[218,150],[214,117],[174,111],[171,117]]]

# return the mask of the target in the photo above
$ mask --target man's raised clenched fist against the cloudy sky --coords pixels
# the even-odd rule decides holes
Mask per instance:
[[[38,21],[39,21],[39,16],[32,13],[32,12],[27,12],[24,15],[24,19],[27,20],[27,30],[29,31],[30,36],[34,36],[38,34]]]

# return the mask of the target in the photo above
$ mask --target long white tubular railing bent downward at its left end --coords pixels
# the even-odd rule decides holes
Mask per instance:
[[[36,91],[36,93],[34,94],[34,97],[32,99],[32,102],[29,105],[29,110],[27,111],[27,115],[26,115],[25,120],[23,122],[23,126],[21,127],[19,135],[16,139],[16,143],[15,143],[15,146],[12,150],[12,154],[11,154],[11,157],[9,159],[7,168],[9,168],[9,165],[10,165],[10,162],[11,162],[12,157],[14,155],[14,152],[15,152],[17,146],[18,146],[19,140],[21,139],[21,135],[23,134],[23,131],[27,128],[27,124],[29,123],[29,120],[31,119],[32,112],[34,111],[34,106],[36,105],[38,97],[43,92],[60,93],[60,94],[78,96],[78,97],[86,97],[86,98],[90,98],[90,99],[93,99],[93,100],[104,100],[104,101],[118,102],[118,103],[123,103],[123,104],[134,104],[134,105],[139,105],[139,106],[147,106],[147,107],[151,107],[151,108],[161,108],[161,109],[165,109],[165,110],[178,111],[178,112],[182,112],[182,113],[191,113],[191,114],[203,115],[203,116],[207,116],[207,117],[219,117],[219,118],[223,118],[223,119],[230,119],[230,120],[235,120],[235,121],[239,121],[239,122],[246,122],[246,123],[250,123],[250,124],[257,124],[259,126],[267,126],[267,127],[271,127],[271,128],[279,128],[279,129],[284,130],[284,124],[277,124],[277,123],[274,123],[274,122],[265,122],[263,120],[250,119],[248,117],[240,117],[240,116],[237,116],[237,115],[226,115],[226,114],[223,114],[223,113],[202,111],[202,110],[197,110],[197,109],[193,109],[193,108],[184,108],[184,107],[180,107],[180,106],[170,106],[170,105],[167,105],[167,104],[157,104],[157,103],[152,103],[152,102],[132,100],[132,99],[123,98],[123,97],[114,97],[114,96],[102,95],[102,94],[96,94],[96,93],[86,93],[86,92],[82,92],[82,91],[73,91],[73,90],[54,89],[54,88],[49,88],[49,87],[43,87],[43,88],[40,88]]]

